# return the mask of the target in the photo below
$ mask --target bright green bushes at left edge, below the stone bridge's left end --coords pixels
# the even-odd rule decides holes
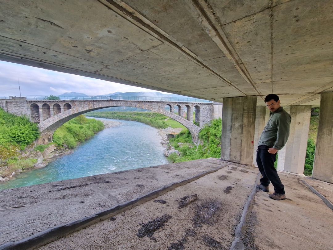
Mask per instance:
[[[39,136],[37,124],[25,116],[16,116],[0,108],[0,146],[1,148],[19,147],[24,149]],[[0,151],[0,155],[2,152]],[[0,158],[3,158],[0,156]]]

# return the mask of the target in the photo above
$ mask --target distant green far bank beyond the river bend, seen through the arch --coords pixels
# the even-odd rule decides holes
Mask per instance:
[[[167,128],[165,122],[167,117],[160,113],[154,112],[89,112],[86,114],[91,117],[137,121],[150,125],[154,128]]]

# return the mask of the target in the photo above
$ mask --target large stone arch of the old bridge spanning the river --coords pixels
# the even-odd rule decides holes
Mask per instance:
[[[147,103],[137,103],[137,102],[129,102],[129,101],[99,101],[99,102],[92,102],[90,105],[80,105],[72,107],[64,112],[61,112],[57,115],[50,117],[49,119],[42,121],[38,127],[41,132],[41,137],[38,140],[38,143],[44,144],[48,143],[52,140],[52,136],[54,131],[59,128],[65,122],[73,119],[74,117],[102,109],[102,108],[110,108],[110,107],[119,107],[119,106],[128,106],[128,107],[135,107],[135,108],[142,108],[151,110],[153,112],[164,114],[180,124],[184,125],[191,133],[193,142],[198,141],[198,135],[200,131],[200,127],[193,124],[191,121],[188,121],[182,118],[179,115],[176,115],[170,111],[167,111],[165,107],[165,103],[157,103],[157,104],[147,104]]]

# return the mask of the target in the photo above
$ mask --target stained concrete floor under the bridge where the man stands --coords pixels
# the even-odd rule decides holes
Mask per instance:
[[[168,186],[158,197],[38,249],[333,249],[333,211],[303,181],[328,202],[333,184],[279,175],[284,201],[255,189],[257,168],[212,158],[4,190],[1,244]]]

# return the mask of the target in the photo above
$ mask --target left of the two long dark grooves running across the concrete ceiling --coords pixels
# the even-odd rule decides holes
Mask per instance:
[[[151,23],[150,20],[148,20],[146,17],[144,17],[141,13],[138,11],[132,9],[129,5],[125,4],[122,2],[122,5],[118,3],[118,1],[114,0],[98,0],[101,4],[106,6],[108,9],[116,12],[117,14],[121,15],[128,21],[132,22],[134,25],[136,25],[138,28],[144,30],[145,32],[149,34],[154,34],[157,39],[162,41],[163,43],[168,44],[169,46],[175,48],[182,54],[184,54],[187,58],[189,58],[191,61],[195,62],[197,65],[200,65],[203,67],[205,70],[222,80],[225,84],[228,86],[236,89],[243,95],[247,96],[243,91],[241,91],[239,88],[237,88],[235,85],[231,84],[231,82],[227,79],[225,79],[223,76],[219,75],[217,72],[215,72],[213,69],[205,65],[201,60],[197,58],[197,56],[192,53],[189,49],[187,49],[184,46],[180,46],[180,44],[177,44],[176,42],[172,41],[169,37],[167,37],[167,34],[163,34],[163,31],[159,31],[156,28],[152,27],[155,26],[153,23]],[[108,6],[106,1],[109,3],[111,6]]]

